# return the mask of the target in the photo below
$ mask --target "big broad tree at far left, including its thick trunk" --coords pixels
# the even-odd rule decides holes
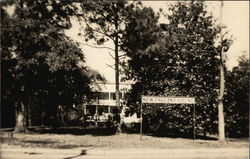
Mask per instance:
[[[82,51],[63,33],[77,9],[72,2],[1,3],[1,70],[6,73],[2,75],[2,94],[15,102],[15,132],[25,132],[26,108],[34,95],[54,105],[70,105],[88,95],[91,77],[100,76],[79,64],[84,62]],[[11,16],[8,5],[15,6]]]

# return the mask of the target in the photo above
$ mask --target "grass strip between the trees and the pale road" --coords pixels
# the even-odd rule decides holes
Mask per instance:
[[[27,134],[14,134],[11,138],[9,131],[0,131],[2,147],[40,147],[70,149],[77,147],[85,148],[162,148],[162,149],[188,149],[188,148],[248,148],[248,138],[227,139],[221,143],[213,138],[193,139],[156,137],[143,135],[140,141],[139,134],[90,134],[84,133],[83,129],[74,131],[31,131]],[[102,130],[100,130],[102,131]],[[82,132],[82,133],[81,133]]]

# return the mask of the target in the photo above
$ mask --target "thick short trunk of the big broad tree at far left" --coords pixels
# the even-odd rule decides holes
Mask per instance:
[[[26,125],[26,111],[23,101],[16,107],[16,126],[14,133],[25,133],[28,132]]]

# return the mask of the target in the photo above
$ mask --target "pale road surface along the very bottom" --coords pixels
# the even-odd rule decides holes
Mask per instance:
[[[44,149],[2,148],[1,159],[248,159],[248,148]]]

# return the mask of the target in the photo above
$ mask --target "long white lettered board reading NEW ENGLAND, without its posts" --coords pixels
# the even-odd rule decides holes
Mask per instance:
[[[195,98],[142,96],[142,103],[195,104]]]

